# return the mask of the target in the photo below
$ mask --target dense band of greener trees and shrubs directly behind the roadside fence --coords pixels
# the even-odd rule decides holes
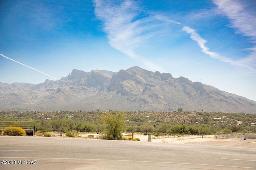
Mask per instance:
[[[36,119],[33,125],[37,129],[55,129],[64,131],[76,131],[85,133],[106,134],[106,139],[121,139],[122,132],[138,132],[154,135],[212,135],[217,132],[256,132],[255,127],[248,125],[223,126],[218,124],[172,124],[170,122],[136,122],[128,121],[126,114],[122,111],[102,112],[95,119]]]

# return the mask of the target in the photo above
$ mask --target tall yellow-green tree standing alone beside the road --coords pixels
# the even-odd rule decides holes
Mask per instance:
[[[123,112],[102,113],[101,121],[106,124],[106,131],[114,140],[122,140],[122,131],[125,127],[125,116]]]

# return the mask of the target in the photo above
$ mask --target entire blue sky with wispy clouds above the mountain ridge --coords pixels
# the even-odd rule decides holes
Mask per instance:
[[[140,66],[256,101],[255,0],[12,0],[0,8],[0,82]]]

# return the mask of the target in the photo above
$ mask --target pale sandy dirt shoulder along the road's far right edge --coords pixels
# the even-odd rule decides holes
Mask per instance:
[[[140,141],[148,141],[148,135],[134,135]],[[215,145],[215,146],[229,146],[229,147],[246,147],[256,148],[256,139],[216,139],[214,135],[207,136],[191,136],[191,137],[152,137],[151,142],[157,143],[179,143],[179,144],[193,144],[193,145]]]

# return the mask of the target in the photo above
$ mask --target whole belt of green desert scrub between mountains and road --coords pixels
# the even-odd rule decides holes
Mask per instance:
[[[33,119],[38,129],[56,129],[77,137],[78,132],[106,134],[121,139],[121,132],[152,135],[210,135],[217,132],[256,133],[255,114],[221,112],[144,111],[0,111],[0,119]]]

